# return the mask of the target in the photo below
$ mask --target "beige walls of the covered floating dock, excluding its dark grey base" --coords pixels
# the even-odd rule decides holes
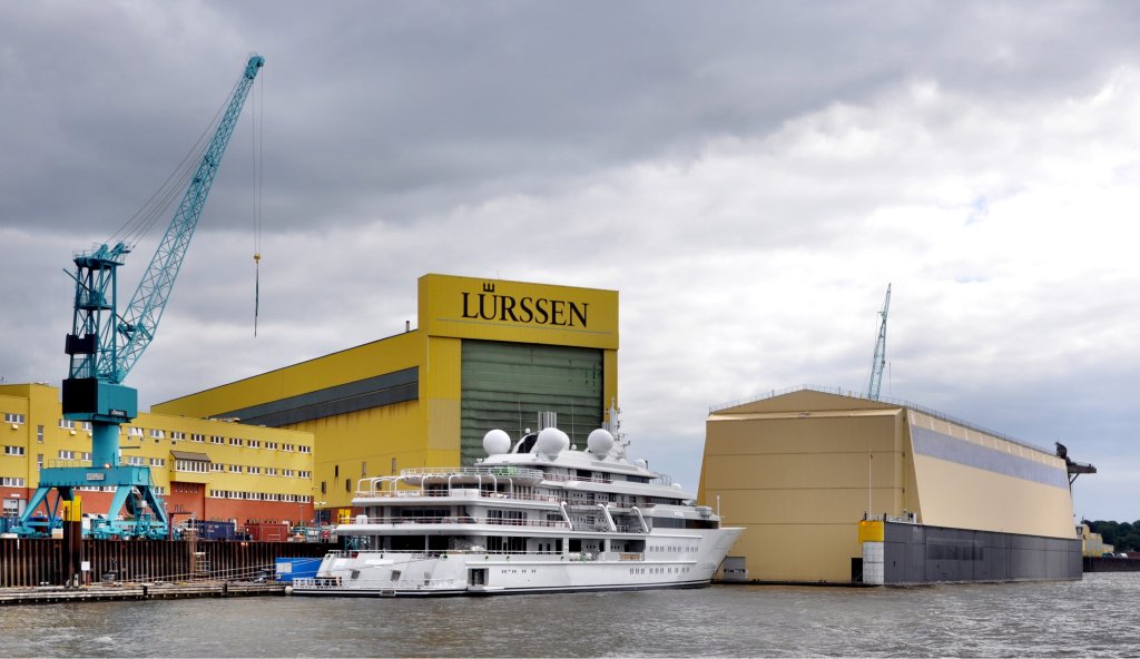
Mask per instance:
[[[1074,536],[1060,458],[906,406],[807,389],[710,414],[698,497],[746,528],[730,555],[760,581],[849,583],[868,511]]]

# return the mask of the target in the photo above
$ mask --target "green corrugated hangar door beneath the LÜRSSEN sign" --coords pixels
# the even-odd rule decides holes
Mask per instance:
[[[556,412],[559,428],[579,449],[602,425],[602,351],[588,348],[463,341],[461,458],[483,457],[483,436],[505,430],[518,439],[537,430],[539,412]]]

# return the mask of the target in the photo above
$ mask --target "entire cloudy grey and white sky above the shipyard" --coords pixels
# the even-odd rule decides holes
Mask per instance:
[[[1132,2],[5,2],[0,377],[62,380],[72,252],[258,51],[144,408],[398,333],[426,272],[612,288],[624,430],[695,489],[709,406],[865,390],[890,283],[883,396],[1059,440],[1100,469],[1076,513],[1135,520],[1138,33]]]

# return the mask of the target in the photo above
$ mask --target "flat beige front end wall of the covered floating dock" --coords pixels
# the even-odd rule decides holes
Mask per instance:
[[[918,505],[903,409],[844,409],[850,399],[814,391],[790,398],[709,416],[698,498],[746,527],[730,555],[747,556],[749,578],[847,583],[868,505]]]

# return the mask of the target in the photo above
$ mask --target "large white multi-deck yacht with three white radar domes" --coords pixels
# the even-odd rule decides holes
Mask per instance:
[[[570,446],[553,413],[475,466],[361,479],[343,550],[293,594],[430,596],[707,586],[740,536],[669,478],[629,462],[611,423]],[[612,430],[612,432],[611,432]],[[618,436],[616,439],[614,436]]]

